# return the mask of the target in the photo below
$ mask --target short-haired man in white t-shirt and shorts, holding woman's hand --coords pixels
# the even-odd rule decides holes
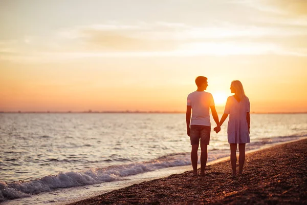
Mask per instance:
[[[192,146],[191,161],[193,175],[197,175],[198,148],[201,140],[201,175],[204,175],[208,158],[207,146],[209,145],[211,132],[209,108],[211,109],[216,125],[218,125],[218,116],[211,93],[205,92],[208,87],[207,78],[204,76],[198,76],[195,79],[195,84],[197,90],[190,93],[187,98],[187,134],[190,136]],[[215,131],[218,132],[219,130]]]

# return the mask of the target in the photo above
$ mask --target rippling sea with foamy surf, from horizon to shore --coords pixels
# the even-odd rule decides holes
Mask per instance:
[[[208,162],[229,157],[227,120],[216,134],[211,118]],[[251,114],[246,150],[305,137],[307,114]],[[0,203],[64,204],[182,173],[190,149],[184,113],[0,113]]]

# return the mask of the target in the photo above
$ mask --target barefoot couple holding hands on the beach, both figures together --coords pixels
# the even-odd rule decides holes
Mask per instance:
[[[198,76],[195,79],[195,83],[197,90],[188,95],[186,111],[187,134],[190,136],[192,146],[191,161],[193,175],[197,175],[198,148],[200,141],[201,175],[205,174],[208,158],[207,146],[209,145],[211,132],[209,108],[211,109],[213,119],[216,123],[216,127],[213,129],[216,133],[221,131],[221,126],[229,115],[227,135],[230,145],[232,175],[236,175],[237,144],[239,144],[238,174],[242,174],[245,161],[245,144],[250,142],[250,103],[248,97],[244,93],[242,83],[239,80],[231,82],[230,91],[234,93],[234,95],[228,97],[221,121],[218,121],[218,115],[211,93],[205,91],[208,87],[207,78]]]

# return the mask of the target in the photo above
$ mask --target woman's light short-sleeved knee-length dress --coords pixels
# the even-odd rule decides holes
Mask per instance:
[[[228,97],[224,113],[229,114],[227,128],[229,143],[243,144],[250,142],[246,119],[247,112],[250,112],[248,98],[238,102],[233,95]]]

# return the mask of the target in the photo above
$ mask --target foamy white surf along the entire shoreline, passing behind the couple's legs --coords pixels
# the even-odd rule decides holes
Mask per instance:
[[[247,150],[261,148],[264,145],[290,141],[307,137],[307,135],[291,135],[273,138],[262,138],[252,141]],[[208,151],[208,162],[229,156],[229,150],[213,149]],[[50,158],[49,160],[58,160]],[[111,159],[106,159],[112,161]],[[20,197],[29,197],[32,194],[50,192],[53,189],[94,185],[96,183],[122,180],[121,177],[136,175],[153,170],[191,165],[190,153],[170,153],[155,160],[134,162],[124,165],[114,165],[105,168],[91,168],[77,172],[60,172],[57,175],[48,175],[30,181],[4,182],[0,181],[0,202]]]

